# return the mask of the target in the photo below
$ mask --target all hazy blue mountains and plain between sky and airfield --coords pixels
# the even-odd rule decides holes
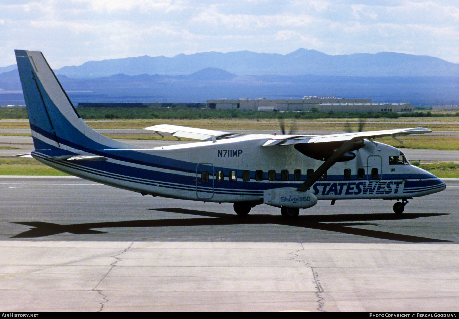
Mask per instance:
[[[395,52],[202,52],[90,61],[55,73],[75,103],[323,95],[415,105],[459,101],[459,64]],[[15,65],[0,68],[0,93],[0,105],[23,103]]]

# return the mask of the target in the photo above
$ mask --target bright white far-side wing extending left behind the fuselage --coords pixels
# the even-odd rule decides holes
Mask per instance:
[[[146,127],[145,130],[155,131],[157,134],[168,133],[175,137],[187,137],[194,138],[196,140],[204,141],[216,141],[222,138],[231,138],[240,136],[237,133],[229,133],[224,131],[213,131],[206,129],[198,129],[194,127],[179,126],[179,125],[170,125],[170,124],[160,124]]]

